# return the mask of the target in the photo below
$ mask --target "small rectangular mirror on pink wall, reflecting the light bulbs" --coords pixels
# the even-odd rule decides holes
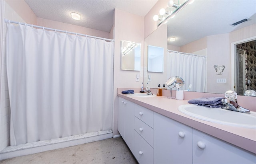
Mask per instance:
[[[121,69],[140,71],[140,43],[122,40]]]

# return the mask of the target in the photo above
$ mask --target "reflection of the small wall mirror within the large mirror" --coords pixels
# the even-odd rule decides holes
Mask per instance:
[[[164,48],[148,45],[148,72],[163,72]]]

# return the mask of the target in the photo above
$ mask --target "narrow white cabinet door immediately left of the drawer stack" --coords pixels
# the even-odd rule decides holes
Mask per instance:
[[[125,115],[124,115],[124,141],[134,152],[134,106],[135,103],[125,100]]]

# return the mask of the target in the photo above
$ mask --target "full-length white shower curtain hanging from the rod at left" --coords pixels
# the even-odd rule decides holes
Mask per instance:
[[[110,130],[114,43],[7,26],[11,145]]]

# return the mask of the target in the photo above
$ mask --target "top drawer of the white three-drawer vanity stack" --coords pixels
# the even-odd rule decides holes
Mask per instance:
[[[135,116],[154,129],[154,111],[136,105]]]

